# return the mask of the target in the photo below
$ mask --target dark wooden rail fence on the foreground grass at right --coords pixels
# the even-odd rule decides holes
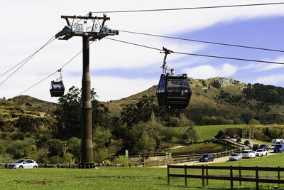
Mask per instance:
[[[184,174],[170,174],[170,168],[184,169]],[[201,169],[201,175],[187,174],[187,169]],[[229,175],[209,175],[209,169],[218,169],[218,170],[228,170]],[[233,175],[233,171],[239,171],[238,175]],[[242,175],[241,171],[255,171],[255,175]],[[268,176],[268,175],[259,175],[258,171],[275,171],[277,175]],[[170,185],[170,177],[182,177],[185,178],[185,186],[187,186],[187,178],[202,179],[202,186],[209,184],[209,179],[218,179],[218,180],[229,180],[231,181],[231,189],[233,189],[233,181],[239,181],[241,186],[241,181],[251,181],[256,182],[256,189],[259,189],[259,183],[270,183],[270,184],[284,184],[284,180],[280,179],[280,171],[284,171],[283,167],[215,167],[215,166],[177,166],[177,165],[168,165],[168,185]],[[260,179],[261,178],[261,179]],[[263,179],[266,178],[266,179]],[[277,178],[277,179],[268,179],[268,178]]]

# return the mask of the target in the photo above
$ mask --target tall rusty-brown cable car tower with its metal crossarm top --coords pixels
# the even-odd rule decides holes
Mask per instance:
[[[81,130],[81,159],[80,168],[94,168],[93,142],[92,142],[92,102],[91,102],[91,79],[89,75],[89,41],[101,40],[106,36],[118,35],[119,31],[112,30],[104,23],[110,18],[92,16],[61,16],[67,21],[62,31],[55,35],[60,40],[69,40],[73,36],[82,37],[83,46],[83,72],[82,72],[82,130]],[[72,23],[70,24],[70,19]],[[83,24],[80,23],[83,21]],[[87,26],[91,22],[92,26]],[[99,21],[102,21],[100,23]]]

